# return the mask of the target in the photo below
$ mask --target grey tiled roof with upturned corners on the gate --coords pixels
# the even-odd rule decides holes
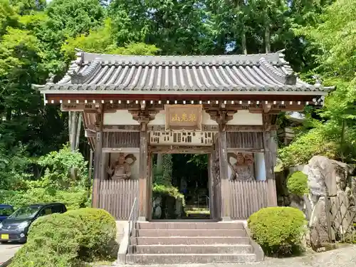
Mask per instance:
[[[138,91],[326,91],[293,73],[281,53],[233,56],[120,56],[77,53],[58,83],[41,88],[98,93]],[[133,92],[132,92],[133,93]],[[241,92],[242,93],[242,92]]]

